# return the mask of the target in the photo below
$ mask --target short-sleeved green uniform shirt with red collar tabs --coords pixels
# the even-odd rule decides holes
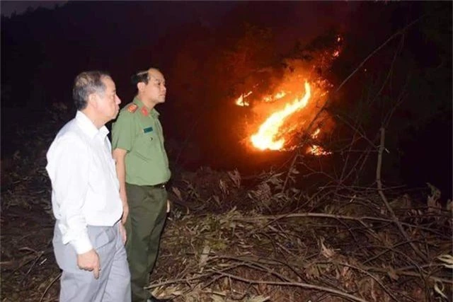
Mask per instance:
[[[159,112],[154,108],[149,111],[138,98],[122,108],[113,123],[112,147],[127,151],[127,183],[158,185],[170,179]]]

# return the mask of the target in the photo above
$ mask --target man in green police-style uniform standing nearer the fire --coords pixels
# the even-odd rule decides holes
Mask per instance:
[[[149,284],[169,210],[165,184],[171,173],[159,112],[154,109],[165,102],[165,79],[158,69],[151,68],[132,76],[132,83],[137,85],[137,95],[120,111],[112,128],[132,302],[162,301],[144,286]]]

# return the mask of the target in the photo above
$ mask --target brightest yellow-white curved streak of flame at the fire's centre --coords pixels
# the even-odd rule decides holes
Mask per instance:
[[[309,83],[305,82],[305,95],[301,99],[296,99],[292,104],[287,104],[283,110],[274,112],[273,115],[268,117],[268,120],[265,120],[261,124],[258,132],[253,134],[251,141],[253,146],[260,150],[270,149],[270,150],[279,150],[282,149],[285,144],[285,139],[277,139],[279,135],[279,129],[282,126],[285,118],[292,113],[300,110],[306,106],[311,97]]]

